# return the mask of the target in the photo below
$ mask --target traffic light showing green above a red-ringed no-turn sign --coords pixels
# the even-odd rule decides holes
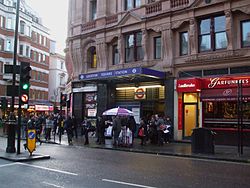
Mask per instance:
[[[22,104],[29,103],[29,89],[30,89],[30,63],[21,62],[20,66],[20,99]]]

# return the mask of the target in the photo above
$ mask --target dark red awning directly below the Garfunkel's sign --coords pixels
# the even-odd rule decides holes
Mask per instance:
[[[250,88],[242,88],[244,100],[250,100]],[[203,89],[201,91],[202,101],[236,101],[238,100],[238,89]]]

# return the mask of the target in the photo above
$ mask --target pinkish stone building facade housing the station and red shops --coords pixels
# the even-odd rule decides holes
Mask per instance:
[[[81,119],[114,106],[134,110],[137,120],[164,113],[171,117],[178,140],[188,139],[195,127],[210,127],[206,122],[218,125],[212,128],[223,134],[230,132],[230,123],[220,126],[226,116],[217,117],[214,111],[206,117],[206,107],[211,103],[224,112],[226,105],[235,107],[227,101],[235,100],[204,98],[208,88],[203,85],[212,77],[229,77],[247,80],[242,87],[249,87],[249,10],[248,0],[71,0],[66,54],[73,65],[75,113]],[[130,74],[131,68],[149,72]],[[194,79],[200,87],[189,83]],[[92,106],[85,104],[88,93],[96,93],[88,102]],[[227,120],[234,124],[233,119]]]

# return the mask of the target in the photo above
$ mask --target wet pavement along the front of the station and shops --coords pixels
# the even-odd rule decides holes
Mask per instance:
[[[96,138],[90,138],[90,144],[87,147],[99,148],[99,149],[109,149],[127,152],[137,152],[137,153],[148,153],[156,155],[168,155],[168,156],[178,156],[178,157],[188,157],[188,158],[199,158],[199,159],[210,159],[210,160],[221,160],[221,161],[231,161],[231,162],[244,162],[250,163],[250,147],[243,148],[243,155],[239,156],[237,146],[215,146],[215,154],[194,154],[191,151],[190,142],[172,142],[164,144],[163,146],[157,146],[148,143],[145,146],[140,145],[140,140],[135,139],[133,147],[114,147],[111,139],[106,139],[105,145],[98,145],[95,143]],[[67,142],[62,142],[62,144],[67,144]],[[79,137],[78,139],[73,139],[74,146],[84,146],[84,139]]]

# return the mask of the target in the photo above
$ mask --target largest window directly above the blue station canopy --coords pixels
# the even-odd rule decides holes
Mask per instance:
[[[142,60],[142,32],[128,34],[125,36],[125,40],[125,61],[132,62]]]

